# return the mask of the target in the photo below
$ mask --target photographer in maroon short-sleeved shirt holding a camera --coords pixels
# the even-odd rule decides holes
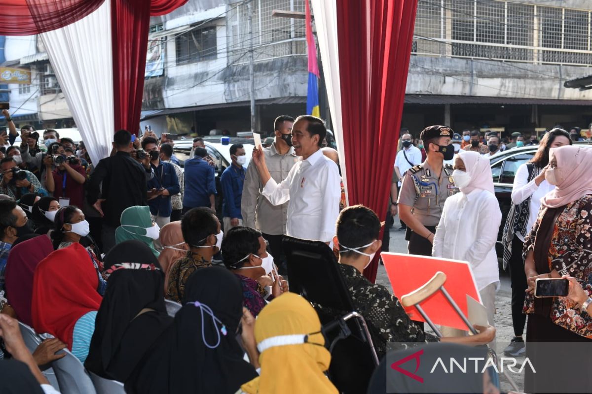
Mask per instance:
[[[61,143],[54,142],[49,146],[49,152],[43,159],[46,166],[47,191],[60,200],[69,200],[63,206],[73,205],[82,208],[84,201],[84,183],[86,182],[86,171],[80,165],[77,157],[66,157],[66,151]]]

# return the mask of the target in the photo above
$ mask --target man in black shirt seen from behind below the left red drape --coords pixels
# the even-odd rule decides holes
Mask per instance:
[[[103,217],[103,253],[115,246],[115,229],[120,226],[121,213],[129,207],[146,206],[147,181],[154,177],[150,155],[141,162],[133,159],[131,134],[115,133],[115,154],[101,159],[88,181],[88,202]]]

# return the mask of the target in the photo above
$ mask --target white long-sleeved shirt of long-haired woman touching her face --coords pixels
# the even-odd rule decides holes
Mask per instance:
[[[520,165],[516,171],[514,177],[514,187],[512,188],[512,203],[520,204],[526,198],[530,198],[529,216],[528,222],[526,223],[526,233],[530,233],[532,226],[535,225],[536,217],[539,214],[540,199],[545,197],[545,194],[549,191],[555,190],[555,186],[548,183],[547,180],[543,180],[540,185],[536,185],[535,180],[528,181],[528,168],[526,164]],[[520,233],[516,233],[516,236],[524,242],[524,237]]]

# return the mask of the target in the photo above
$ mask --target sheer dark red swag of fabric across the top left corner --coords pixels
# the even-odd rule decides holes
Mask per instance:
[[[104,0],[1,0],[0,35],[55,30],[86,17]]]

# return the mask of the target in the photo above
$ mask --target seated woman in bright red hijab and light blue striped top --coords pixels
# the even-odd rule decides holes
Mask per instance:
[[[37,333],[50,333],[84,362],[102,297],[86,249],[73,243],[47,256],[33,275],[31,318]]]

